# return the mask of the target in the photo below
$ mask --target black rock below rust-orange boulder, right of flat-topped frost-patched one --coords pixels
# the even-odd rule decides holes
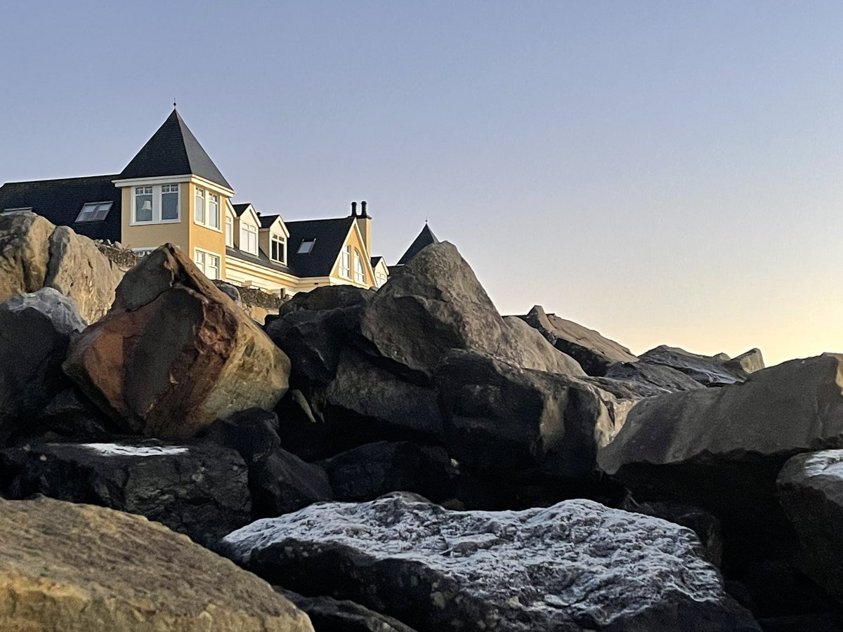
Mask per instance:
[[[280,516],[334,498],[325,470],[283,450],[277,429],[275,413],[251,409],[218,420],[202,437],[243,457],[255,517]]]

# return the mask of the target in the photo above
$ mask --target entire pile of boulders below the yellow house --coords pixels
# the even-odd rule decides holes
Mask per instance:
[[[843,356],[634,356],[448,243],[263,328],[0,244],[0,629],[843,629]]]

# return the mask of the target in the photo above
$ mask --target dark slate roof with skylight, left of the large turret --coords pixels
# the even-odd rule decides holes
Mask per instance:
[[[69,226],[92,239],[121,239],[121,191],[112,183],[116,175],[85,178],[7,182],[0,186],[0,211],[31,206],[32,211],[56,224]],[[112,202],[101,222],[77,222],[86,202]]]

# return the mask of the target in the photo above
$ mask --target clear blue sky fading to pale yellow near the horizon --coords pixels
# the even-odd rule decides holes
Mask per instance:
[[[843,3],[8,2],[0,181],[181,115],[285,219],[429,219],[503,313],[640,353],[843,351]]]

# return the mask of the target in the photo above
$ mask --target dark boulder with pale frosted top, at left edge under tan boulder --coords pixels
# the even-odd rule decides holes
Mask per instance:
[[[62,362],[84,328],[72,300],[51,287],[0,304],[0,444],[70,385]]]

